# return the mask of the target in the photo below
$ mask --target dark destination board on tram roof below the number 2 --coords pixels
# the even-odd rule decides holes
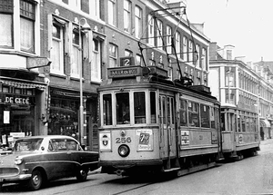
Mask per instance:
[[[142,73],[141,66],[122,66],[115,68],[108,68],[108,78],[125,78],[140,76]]]

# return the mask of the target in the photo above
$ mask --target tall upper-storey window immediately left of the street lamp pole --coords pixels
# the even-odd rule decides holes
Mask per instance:
[[[79,78],[79,64],[81,52],[79,50],[79,32],[77,29],[72,33],[72,56],[71,56],[71,76]]]

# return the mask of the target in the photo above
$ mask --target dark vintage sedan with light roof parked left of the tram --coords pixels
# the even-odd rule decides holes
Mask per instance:
[[[48,180],[86,180],[88,171],[97,168],[98,152],[84,151],[72,137],[25,137],[15,141],[11,154],[0,155],[0,187],[25,182],[30,190],[39,190]]]

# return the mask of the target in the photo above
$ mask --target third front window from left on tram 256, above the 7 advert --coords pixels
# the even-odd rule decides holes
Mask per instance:
[[[134,93],[135,123],[146,123],[145,93]]]

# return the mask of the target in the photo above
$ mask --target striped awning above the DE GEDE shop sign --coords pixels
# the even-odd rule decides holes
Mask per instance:
[[[45,90],[46,84],[44,83],[25,83],[25,82],[15,82],[15,81],[7,81],[7,80],[0,80],[0,83],[5,84],[7,86],[12,86],[21,89],[39,89]]]

